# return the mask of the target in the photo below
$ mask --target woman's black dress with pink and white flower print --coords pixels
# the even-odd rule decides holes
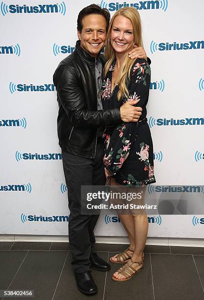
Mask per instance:
[[[145,59],[137,58],[135,60],[128,82],[129,97],[120,101],[117,99],[118,85],[111,93],[114,67],[115,62],[110,66],[102,84],[103,109],[120,107],[127,101],[138,99],[139,102],[135,106],[140,106],[143,110],[137,123],[122,123],[106,127],[103,163],[119,184],[140,187],[156,182],[153,170],[153,142],[146,118],[146,105],[150,89],[150,65]]]

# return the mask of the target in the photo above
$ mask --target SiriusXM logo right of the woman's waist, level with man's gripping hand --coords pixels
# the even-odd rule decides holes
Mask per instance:
[[[149,118],[149,126],[173,126],[173,125],[204,125],[204,118],[185,118],[185,119],[154,119]]]

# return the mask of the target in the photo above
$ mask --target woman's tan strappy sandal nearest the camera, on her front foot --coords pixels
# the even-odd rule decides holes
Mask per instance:
[[[132,267],[133,264],[141,265],[141,268],[138,269],[138,270],[135,270],[135,269]],[[141,270],[143,269],[143,266],[144,266],[143,260],[141,260],[141,261],[134,261],[134,260],[130,259],[130,260],[125,264],[125,266],[123,266],[123,267],[121,268],[122,271],[120,271],[120,272],[117,271],[118,273],[124,275],[125,278],[124,278],[124,279],[119,279],[119,278],[115,277],[114,275],[112,275],[112,279],[113,279],[114,281],[127,281],[127,280],[129,280],[130,278],[132,278],[135,274],[137,274],[139,271],[141,271]]]

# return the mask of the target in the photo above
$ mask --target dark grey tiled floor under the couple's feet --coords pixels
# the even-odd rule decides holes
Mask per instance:
[[[96,244],[105,261],[127,245]],[[0,242],[0,290],[34,290],[37,300],[83,300],[90,296],[76,288],[69,243]],[[203,300],[204,248],[145,247],[144,269],[126,282],[108,272],[92,270],[96,300]],[[3,298],[6,299],[6,298]],[[14,298],[22,299],[22,298]]]

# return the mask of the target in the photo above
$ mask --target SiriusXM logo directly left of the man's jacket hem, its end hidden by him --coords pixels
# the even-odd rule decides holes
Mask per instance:
[[[16,160],[19,162],[21,159],[25,160],[59,160],[62,159],[61,153],[48,153],[48,154],[31,154],[31,153],[20,153],[16,151]]]

